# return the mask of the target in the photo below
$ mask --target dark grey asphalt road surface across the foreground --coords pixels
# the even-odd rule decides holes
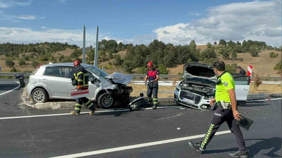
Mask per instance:
[[[14,83],[13,83],[14,82]],[[15,87],[15,81],[0,80],[0,94]],[[17,83],[16,83],[17,84]],[[97,112],[94,116],[58,115],[29,118],[3,117],[70,113],[58,110],[18,109],[20,89],[0,95],[0,157],[55,157],[165,141],[206,133],[214,111],[164,108],[142,111]],[[4,103],[3,103],[4,102]],[[7,104],[6,104],[7,102]],[[254,101],[238,107],[242,115],[255,122],[249,131],[242,129],[249,157],[281,157],[281,100]],[[87,112],[86,108],[82,112]],[[99,109],[98,111],[103,111]],[[180,127],[180,130],[177,128]],[[218,131],[228,131],[224,123]],[[181,140],[181,139],[180,139]],[[201,141],[202,138],[191,138]],[[105,150],[85,157],[229,157],[236,151],[232,133],[214,136],[205,154],[188,145],[189,140],[120,151]],[[82,154],[81,154],[82,153]],[[70,157],[70,156],[67,156]]]

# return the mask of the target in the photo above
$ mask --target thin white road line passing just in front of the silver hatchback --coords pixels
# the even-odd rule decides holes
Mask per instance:
[[[158,107],[158,109],[163,109],[163,108],[172,108],[172,107],[181,107],[181,106],[163,106],[163,107]],[[152,109],[152,108],[145,108],[147,109]],[[124,110],[108,110],[108,111],[95,111],[95,113],[102,113],[102,112],[116,112],[116,111],[130,111],[129,109],[124,109]],[[90,111],[89,111],[90,112]],[[89,112],[81,112],[81,114],[89,114]],[[1,117],[0,120],[3,119],[15,119],[15,118],[27,118],[27,117],[42,117],[42,116],[60,116],[60,115],[72,115],[71,113],[65,113],[65,114],[49,114],[49,115],[32,115],[32,116],[16,116],[16,117]]]

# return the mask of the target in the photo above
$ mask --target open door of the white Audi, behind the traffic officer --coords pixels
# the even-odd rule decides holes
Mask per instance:
[[[236,99],[239,104],[245,104],[247,101],[247,96],[250,89],[250,80],[250,76],[234,77]]]

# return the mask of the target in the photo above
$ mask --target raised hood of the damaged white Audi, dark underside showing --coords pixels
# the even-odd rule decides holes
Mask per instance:
[[[213,72],[213,67],[208,64],[190,62],[183,66],[185,79],[197,80],[205,83],[209,80],[210,84],[217,81],[217,76]]]

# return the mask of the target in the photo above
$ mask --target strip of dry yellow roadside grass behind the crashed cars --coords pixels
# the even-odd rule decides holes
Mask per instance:
[[[136,85],[136,84],[129,84],[128,86],[132,86],[133,92],[130,96],[139,96],[140,91],[147,91],[147,86],[145,85]],[[159,91],[174,91],[175,86],[159,86]],[[254,84],[251,83],[249,94],[254,93],[281,93],[282,92],[282,86],[281,84],[261,84],[259,86],[259,90],[256,91],[254,88]],[[146,93],[144,93],[146,96]],[[172,93],[158,93],[159,98],[167,98],[167,97],[173,97]]]

